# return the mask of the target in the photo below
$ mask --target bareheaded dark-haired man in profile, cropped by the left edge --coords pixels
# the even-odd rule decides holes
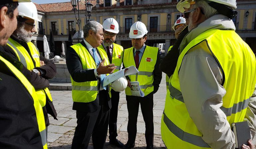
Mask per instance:
[[[17,27],[18,2],[0,2],[0,148],[47,149],[45,121],[26,69],[2,46]]]

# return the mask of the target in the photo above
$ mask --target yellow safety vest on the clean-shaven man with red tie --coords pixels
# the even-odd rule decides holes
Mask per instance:
[[[123,64],[126,68],[136,66],[133,49],[134,48],[131,47],[124,50]],[[140,61],[138,69],[139,73],[129,75],[130,81],[139,81],[140,88],[144,92],[145,96],[154,90],[154,86],[152,85],[154,81],[153,71],[155,69],[158,52],[158,48],[146,46]],[[125,94],[132,95],[130,87],[126,87]]]

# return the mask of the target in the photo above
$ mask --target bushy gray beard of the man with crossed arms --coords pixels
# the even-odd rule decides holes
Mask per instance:
[[[25,24],[21,25],[19,28],[16,29],[17,37],[21,41],[30,42],[32,40],[33,32],[28,32],[25,30]]]

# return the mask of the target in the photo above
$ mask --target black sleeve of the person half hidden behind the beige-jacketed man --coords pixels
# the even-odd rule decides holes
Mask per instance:
[[[177,41],[174,43],[172,49],[167,53],[167,55],[162,59],[161,64],[160,64],[160,70],[167,74],[169,77],[174,73],[178,58],[180,55],[180,44],[189,32],[188,26],[182,30],[180,33]]]

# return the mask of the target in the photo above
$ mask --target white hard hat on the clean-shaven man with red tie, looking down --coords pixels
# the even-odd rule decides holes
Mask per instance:
[[[135,22],[130,29],[129,37],[132,39],[141,38],[148,33],[147,27],[142,22]]]

